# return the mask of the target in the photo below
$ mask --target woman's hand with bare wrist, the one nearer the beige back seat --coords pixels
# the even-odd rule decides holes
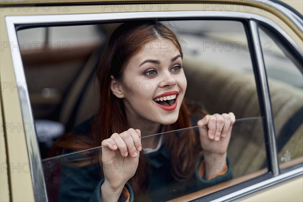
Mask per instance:
[[[206,115],[197,122],[207,178],[223,170],[232,125],[235,119],[235,115],[230,112],[222,115]]]

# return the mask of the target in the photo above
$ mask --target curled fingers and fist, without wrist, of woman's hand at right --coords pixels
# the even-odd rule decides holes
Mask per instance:
[[[234,122],[235,115],[232,112],[206,115],[197,122],[200,126],[200,143],[205,155],[226,155]]]

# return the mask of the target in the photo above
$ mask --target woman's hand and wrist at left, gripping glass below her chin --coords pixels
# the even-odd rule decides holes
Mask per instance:
[[[105,181],[102,200],[117,201],[125,183],[135,174],[142,149],[141,131],[130,128],[114,133],[102,141],[102,163]]]

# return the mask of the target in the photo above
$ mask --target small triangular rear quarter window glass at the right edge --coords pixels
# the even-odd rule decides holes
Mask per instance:
[[[303,160],[303,76],[283,41],[260,28],[260,40],[271,95],[280,168]],[[284,39],[286,40],[286,39]],[[301,59],[297,59],[301,60]],[[302,64],[299,64],[302,65]]]

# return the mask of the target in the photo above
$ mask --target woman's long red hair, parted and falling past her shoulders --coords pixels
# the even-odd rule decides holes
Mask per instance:
[[[132,56],[140,52],[147,42],[160,37],[171,41],[180,51],[182,49],[178,38],[164,24],[154,20],[133,21],[120,25],[111,35],[97,68],[99,82],[100,106],[91,124],[91,138],[84,135],[67,134],[57,143],[57,147],[72,150],[83,150],[100,146],[104,139],[110,138],[113,133],[121,133],[129,129],[126,119],[123,99],[117,98],[111,91],[111,75],[115,79],[122,78],[127,62]],[[172,125],[164,126],[165,131],[190,127],[189,112],[183,102],[177,121]],[[198,136],[193,131],[186,135],[169,135],[165,139],[165,146],[171,152],[172,174],[177,180],[183,180],[194,174],[195,164],[201,146]],[[98,154],[88,164],[101,162],[102,154]],[[130,179],[134,192],[142,189],[146,179],[144,154],[140,154],[136,174]],[[83,162],[82,165],[84,166]]]

